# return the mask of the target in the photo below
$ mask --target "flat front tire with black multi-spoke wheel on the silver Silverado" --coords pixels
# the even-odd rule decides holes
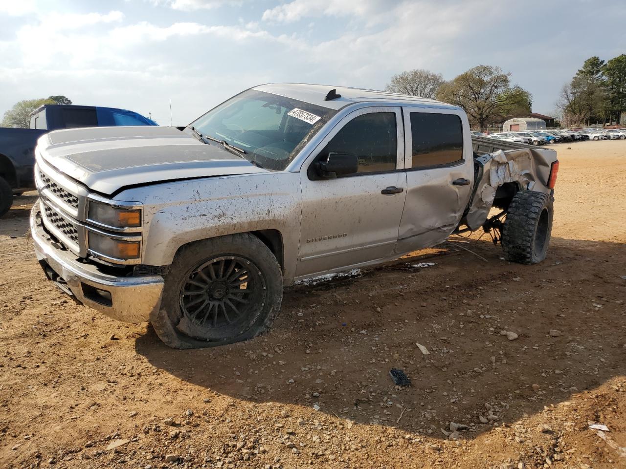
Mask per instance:
[[[272,251],[248,233],[220,236],[178,251],[150,322],[173,348],[226,345],[267,330],[281,301]]]

